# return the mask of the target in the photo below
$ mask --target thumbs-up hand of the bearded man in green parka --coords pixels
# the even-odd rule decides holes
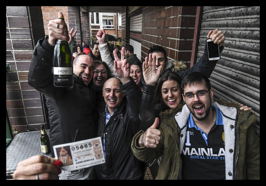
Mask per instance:
[[[147,147],[147,148],[156,148],[157,145],[159,144],[160,134],[161,132],[156,129],[157,126],[159,125],[159,118],[155,118],[155,121],[150,128],[146,130],[144,134],[140,136],[139,139],[139,146],[140,147]]]

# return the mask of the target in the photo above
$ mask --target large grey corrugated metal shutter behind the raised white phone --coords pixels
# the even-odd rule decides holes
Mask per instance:
[[[254,110],[259,133],[259,13],[260,7],[203,7],[197,60],[208,32],[218,28],[226,40],[210,81],[214,94]]]

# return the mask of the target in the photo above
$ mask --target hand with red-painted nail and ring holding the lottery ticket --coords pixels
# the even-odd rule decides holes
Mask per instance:
[[[55,158],[35,155],[17,164],[14,179],[59,179],[61,161]]]

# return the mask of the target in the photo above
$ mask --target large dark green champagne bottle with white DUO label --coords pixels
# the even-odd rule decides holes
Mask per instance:
[[[61,39],[57,39],[53,52],[53,84],[62,87],[73,85],[72,54],[68,42]]]

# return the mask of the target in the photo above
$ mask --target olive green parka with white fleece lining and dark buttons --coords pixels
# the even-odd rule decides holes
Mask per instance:
[[[233,107],[212,105],[223,114],[225,132],[226,179],[259,179],[259,140],[251,125],[256,115],[251,111]],[[138,132],[131,143],[134,155],[141,161],[151,161],[162,155],[156,179],[181,179],[181,152],[186,139],[186,122],[190,111],[186,105],[160,124],[161,139],[156,148],[138,147],[143,131]]]

